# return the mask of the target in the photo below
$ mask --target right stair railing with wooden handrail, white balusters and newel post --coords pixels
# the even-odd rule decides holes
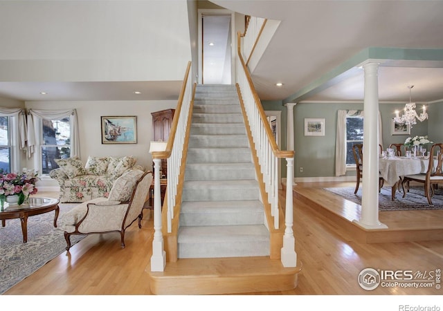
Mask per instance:
[[[278,158],[285,158],[287,161],[287,187],[286,187],[286,207],[284,214],[284,236],[283,247],[281,249],[281,261],[284,267],[296,267],[297,254],[295,251],[295,237],[293,235],[293,158],[294,151],[281,151],[271,131],[271,126],[266,119],[266,114],[260,101],[260,97],[255,91],[253,80],[244,62],[242,55],[242,34],[237,32],[237,72],[235,77],[237,85],[242,95],[244,109],[251,129],[257,158],[260,162],[260,169],[263,174],[263,181],[268,194],[268,201],[271,205],[271,216],[273,225],[278,229],[280,208],[278,203]]]

